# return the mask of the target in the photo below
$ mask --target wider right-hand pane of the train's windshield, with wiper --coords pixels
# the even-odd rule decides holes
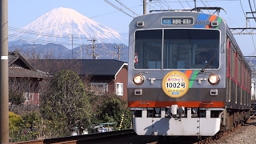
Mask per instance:
[[[218,69],[219,41],[218,30],[164,30],[163,68]]]

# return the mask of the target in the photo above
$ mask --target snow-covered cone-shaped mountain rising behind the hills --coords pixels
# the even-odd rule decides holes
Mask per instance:
[[[14,39],[29,40],[34,43],[57,43],[70,45],[71,41],[78,46],[96,38],[98,42],[126,43],[117,31],[99,22],[79,14],[76,10],[58,7],[43,14],[21,30],[12,33]],[[72,39],[71,39],[72,38]]]

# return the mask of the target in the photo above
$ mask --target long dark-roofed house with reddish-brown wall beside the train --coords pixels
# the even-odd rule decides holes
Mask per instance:
[[[81,78],[90,78],[90,86],[95,94],[111,93],[127,99],[126,62],[115,59],[38,59],[30,63],[50,75],[59,70],[73,70]]]

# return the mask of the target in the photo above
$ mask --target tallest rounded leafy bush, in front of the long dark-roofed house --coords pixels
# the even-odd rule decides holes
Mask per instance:
[[[81,134],[90,126],[91,106],[78,74],[62,70],[50,79],[46,90],[41,95],[41,112],[52,138],[70,135],[74,127]]]

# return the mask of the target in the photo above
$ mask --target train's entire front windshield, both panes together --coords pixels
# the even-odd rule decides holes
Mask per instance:
[[[218,69],[219,30],[137,30],[135,69]]]

